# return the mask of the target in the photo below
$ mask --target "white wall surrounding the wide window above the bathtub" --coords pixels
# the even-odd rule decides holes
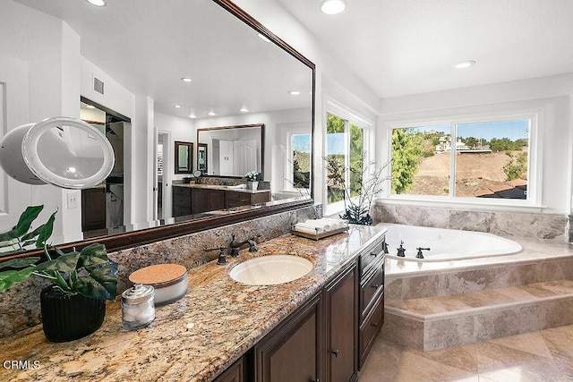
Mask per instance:
[[[573,147],[572,93],[573,74],[566,74],[409,97],[384,98],[382,115],[377,123],[376,140],[381,144],[377,160],[383,162],[388,159],[388,126],[392,123],[428,122],[456,115],[498,115],[514,110],[539,113],[537,138],[540,143],[541,200],[539,208],[535,210],[569,214]]]

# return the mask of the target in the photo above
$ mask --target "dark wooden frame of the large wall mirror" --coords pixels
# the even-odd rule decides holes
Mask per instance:
[[[316,91],[316,67],[308,58],[295,50],[294,47],[289,46],[281,38],[278,38],[274,33],[264,27],[259,21],[252,18],[249,13],[244,12],[231,0],[212,0],[215,4],[220,5],[227,12],[235,15],[240,21],[251,27],[253,30],[261,33],[269,38],[275,45],[285,50],[286,53],[292,55],[302,64],[306,65],[312,70],[312,103],[311,103],[311,146],[314,140],[314,125],[315,125],[315,91]],[[311,169],[314,168],[314,156],[311,156]],[[238,211],[228,215],[210,216],[198,219],[192,219],[181,223],[173,223],[169,225],[160,225],[152,228],[144,228],[128,233],[116,233],[108,236],[96,237],[79,242],[68,242],[59,244],[57,247],[64,252],[70,250],[81,250],[93,243],[102,243],[106,246],[108,252],[115,250],[124,250],[133,248],[138,245],[149,244],[151,242],[158,242],[161,240],[173,239],[185,234],[197,233],[208,229],[218,228],[223,225],[230,225],[249,221],[254,218],[262,216],[271,216],[282,212],[293,211],[299,208],[312,207],[314,201],[312,195],[314,192],[314,179],[312,176],[311,181],[311,198],[293,198],[285,200],[278,200],[278,202],[269,202],[264,206],[252,207],[244,211]],[[13,256],[6,256],[2,260],[23,258],[30,256],[44,256],[44,250],[27,250]]]

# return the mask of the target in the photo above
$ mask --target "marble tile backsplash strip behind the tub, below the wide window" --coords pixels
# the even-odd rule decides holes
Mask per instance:
[[[372,219],[374,225],[384,222],[487,232],[509,238],[569,239],[567,215],[472,211],[376,202],[372,207]]]

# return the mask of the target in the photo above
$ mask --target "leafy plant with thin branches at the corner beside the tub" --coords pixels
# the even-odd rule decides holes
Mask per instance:
[[[347,182],[346,166],[340,157],[323,157],[323,159],[326,162],[329,187],[341,191],[344,199],[345,212],[339,215],[340,218],[356,225],[372,225],[370,215],[372,199],[383,190],[382,183],[390,179],[384,175],[390,162],[376,168],[374,161],[366,161],[366,152],[363,151],[362,160],[358,161],[360,165],[349,166],[348,178],[351,181]],[[369,173],[370,168],[373,168],[372,173]]]

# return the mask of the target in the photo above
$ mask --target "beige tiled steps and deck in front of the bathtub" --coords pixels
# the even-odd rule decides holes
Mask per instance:
[[[573,324],[573,245],[512,240],[524,250],[498,258],[387,258],[381,335],[429,351]]]

